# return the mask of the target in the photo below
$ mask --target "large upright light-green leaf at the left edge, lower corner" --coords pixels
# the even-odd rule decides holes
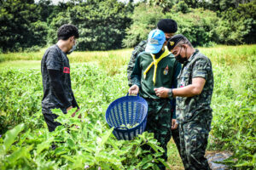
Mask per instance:
[[[0,148],[0,152],[2,153],[2,155],[4,155],[7,150],[9,150],[10,145],[15,142],[16,137],[23,129],[24,129],[24,123],[21,123],[20,125],[17,125],[13,129],[5,133],[5,138],[3,139],[3,145]]]

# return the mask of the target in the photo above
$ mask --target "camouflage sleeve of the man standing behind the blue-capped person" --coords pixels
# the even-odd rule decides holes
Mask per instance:
[[[129,61],[128,67],[127,67],[127,78],[128,78],[128,85],[131,87],[132,82],[131,82],[131,72],[133,71],[134,65],[135,65],[135,61],[137,59],[137,55],[142,53],[143,51],[145,51],[145,48],[147,46],[147,42],[146,40],[140,42],[132,51],[131,54],[131,59]]]

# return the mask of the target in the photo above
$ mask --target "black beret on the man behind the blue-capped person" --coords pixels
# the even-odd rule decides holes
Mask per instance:
[[[157,23],[157,28],[165,33],[175,33],[177,31],[177,22],[172,19],[163,19]]]

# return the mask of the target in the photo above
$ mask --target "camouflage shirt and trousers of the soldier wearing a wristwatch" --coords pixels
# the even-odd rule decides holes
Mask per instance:
[[[212,63],[197,49],[183,64],[183,69],[177,77],[177,88],[188,86],[195,77],[206,80],[201,94],[176,98],[180,154],[186,170],[210,169],[204,155],[212,122],[210,107],[213,91]]]

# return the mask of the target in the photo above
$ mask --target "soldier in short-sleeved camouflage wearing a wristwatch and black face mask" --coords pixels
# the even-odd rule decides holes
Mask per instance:
[[[172,37],[167,47],[183,68],[177,77],[177,88],[159,88],[156,93],[159,97],[176,97],[180,155],[185,169],[208,170],[204,155],[212,122],[212,63],[183,35]]]

